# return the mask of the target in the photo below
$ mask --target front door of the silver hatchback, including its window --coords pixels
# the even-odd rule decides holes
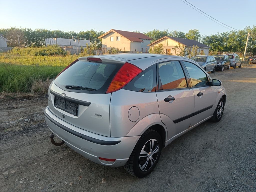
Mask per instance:
[[[215,109],[217,88],[210,86],[209,77],[196,64],[183,61],[195,95],[195,108],[191,126],[211,117]]]

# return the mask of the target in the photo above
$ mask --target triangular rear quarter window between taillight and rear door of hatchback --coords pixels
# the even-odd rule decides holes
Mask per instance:
[[[142,71],[123,89],[138,92],[156,91],[156,65],[152,65]]]

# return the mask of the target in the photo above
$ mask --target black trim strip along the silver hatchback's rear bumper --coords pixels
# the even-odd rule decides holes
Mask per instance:
[[[62,125],[62,124],[60,124],[60,123],[58,123],[57,121],[55,121],[54,119],[52,119],[52,118],[45,112],[45,110],[44,110],[44,114],[45,114],[46,118],[47,118],[49,121],[51,121],[52,123],[54,123],[55,125],[57,125],[57,126],[60,127],[61,129],[65,130],[65,131],[67,131],[67,132],[69,132],[69,133],[71,133],[71,134],[73,134],[73,135],[75,135],[75,136],[77,136],[77,137],[80,137],[80,138],[82,138],[82,139],[84,139],[84,140],[86,140],[86,141],[90,141],[90,142],[92,142],[92,143],[97,143],[97,144],[99,144],[99,145],[116,145],[116,144],[118,144],[118,143],[121,142],[121,141],[104,141],[104,140],[95,139],[95,138],[93,138],[93,137],[89,137],[89,136],[87,136],[87,135],[83,135],[83,134],[81,134],[81,133],[78,133],[78,132],[76,132],[76,131],[74,131],[74,130],[72,130],[72,129],[69,129],[68,127],[66,127],[66,126],[64,126],[64,125]]]

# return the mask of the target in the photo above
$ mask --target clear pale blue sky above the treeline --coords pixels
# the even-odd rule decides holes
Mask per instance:
[[[187,0],[211,17],[235,29],[256,25],[255,0]],[[253,6],[252,6],[253,5]],[[0,28],[43,28],[76,31],[151,31],[169,29],[202,35],[230,31],[201,15],[181,0],[87,1],[0,0]],[[223,25],[223,24],[222,24]]]

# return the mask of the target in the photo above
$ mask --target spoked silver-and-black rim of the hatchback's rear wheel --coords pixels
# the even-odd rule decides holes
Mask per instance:
[[[158,156],[159,145],[155,139],[150,139],[142,147],[139,157],[139,167],[142,171],[150,169]]]

